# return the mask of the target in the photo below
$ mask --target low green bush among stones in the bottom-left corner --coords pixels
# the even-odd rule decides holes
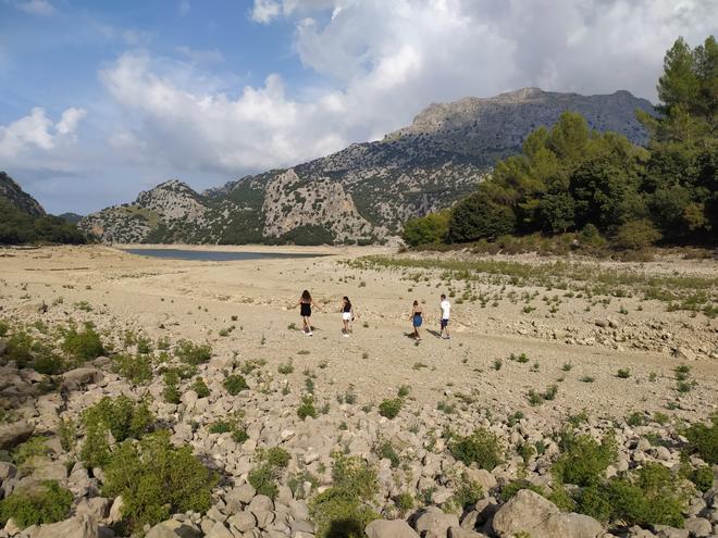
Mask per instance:
[[[46,480],[40,487],[13,491],[1,500],[0,522],[8,523],[12,517],[21,529],[60,522],[70,515],[72,500],[72,493],[57,480]]]

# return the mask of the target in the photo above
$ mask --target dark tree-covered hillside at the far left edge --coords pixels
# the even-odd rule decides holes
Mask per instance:
[[[83,243],[85,235],[59,216],[48,215],[35,198],[0,172],[0,245]]]

